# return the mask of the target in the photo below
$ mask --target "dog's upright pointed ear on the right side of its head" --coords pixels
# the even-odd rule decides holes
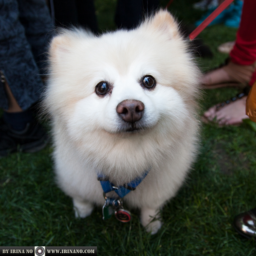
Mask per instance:
[[[179,26],[167,10],[159,10],[146,24],[165,33],[170,39],[179,37]]]

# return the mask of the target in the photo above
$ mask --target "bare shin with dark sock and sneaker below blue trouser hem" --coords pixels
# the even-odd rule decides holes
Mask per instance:
[[[18,150],[28,153],[41,150],[47,145],[48,136],[33,117],[32,109],[20,108],[3,76],[0,83],[3,84],[8,101],[8,109],[4,110],[3,118],[0,118],[0,157]]]

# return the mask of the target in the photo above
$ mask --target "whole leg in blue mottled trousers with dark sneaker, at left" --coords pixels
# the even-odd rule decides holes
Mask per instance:
[[[0,156],[16,151],[18,144],[24,151],[38,151],[47,136],[30,107],[39,100],[43,83],[19,21],[17,1],[0,0],[0,26]]]

